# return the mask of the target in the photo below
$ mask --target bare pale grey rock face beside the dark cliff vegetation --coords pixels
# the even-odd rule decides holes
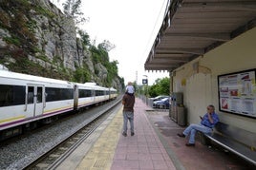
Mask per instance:
[[[35,15],[36,29],[34,36],[37,47],[45,52],[50,62],[55,62],[75,71],[75,66],[83,62],[83,51],[78,50],[76,43],[75,23],[72,18],[67,18],[59,9],[49,1],[37,1],[39,6],[52,11],[53,18]],[[37,53],[40,55],[40,53]]]

